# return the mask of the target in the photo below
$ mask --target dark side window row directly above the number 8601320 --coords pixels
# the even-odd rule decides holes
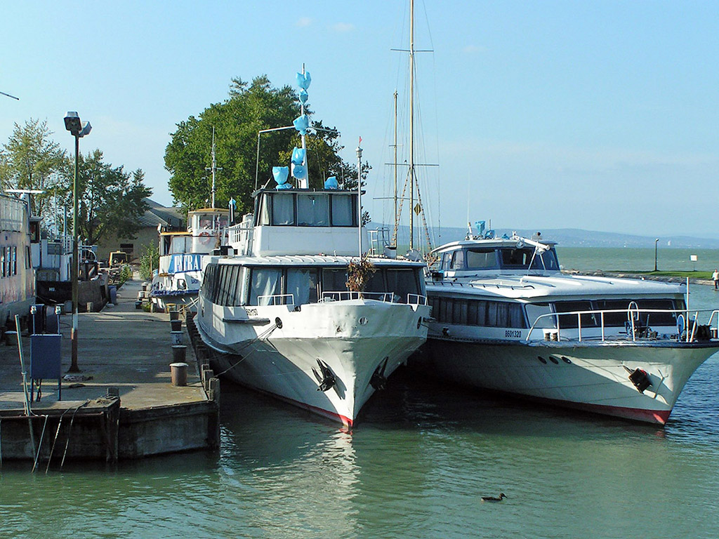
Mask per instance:
[[[520,303],[438,296],[430,296],[429,303],[432,305],[432,316],[439,322],[493,328],[527,327]]]

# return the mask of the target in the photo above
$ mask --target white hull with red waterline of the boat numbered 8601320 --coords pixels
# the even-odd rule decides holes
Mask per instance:
[[[425,367],[483,390],[648,423],[667,423],[684,385],[719,342],[472,342],[430,338]],[[635,369],[651,383],[643,392]]]

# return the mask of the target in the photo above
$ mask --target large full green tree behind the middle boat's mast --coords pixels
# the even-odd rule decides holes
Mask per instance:
[[[234,78],[226,101],[212,104],[198,117],[181,121],[172,134],[165,149],[165,168],[171,175],[169,185],[175,202],[186,209],[209,205],[211,172],[206,169],[211,165],[214,127],[216,163],[222,168],[215,177],[216,206],[226,207],[229,199],[234,198],[239,215],[253,211],[251,193],[255,190],[256,167],[257,187],[261,187],[272,178],[272,167],[289,165],[293,147],[300,146],[295,129],[262,134],[258,164],[257,133],[291,126],[299,110],[298,95],[290,86],[273,88],[267,75],[253,79],[252,83]],[[312,125],[324,129],[321,121],[313,121]],[[350,178],[354,174],[356,178],[356,165],[348,165],[339,157],[342,150],[339,134],[316,133],[306,137],[310,186],[321,187],[332,175],[340,182],[343,176]]]

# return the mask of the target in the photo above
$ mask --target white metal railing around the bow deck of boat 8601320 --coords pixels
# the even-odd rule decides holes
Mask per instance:
[[[699,324],[697,323],[697,320],[699,318],[699,313],[706,313],[710,312],[710,318],[709,322],[707,323],[707,326],[710,328],[710,331],[712,333],[712,336],[715,337],[718,331],[718,328],[713,327],[711,324],[712,322],[719,324],[719,310],[695,310],[694,311],[694,318],[690,320],[690,323],[686,323],[686,320],[690,319],[690,313],[689,311],[685,309],[642,309],[639,308],[636,302],[631,302],[628,305],[628,308],[626,309],[606,309],[606,310],[572,310],[567,311],[566,313],[545,313],[542,315],[537,316],[536,320],[532,324],[531,328],[529,328],[529,332],[527,333],[526,341],[540,341],[540,340],[546,340],[546,341],[561,341],[562,340],[562,328],[560,324],[560,316],[576,316],[577,317],[577,326],[572,328],[564,328],[564,334],[566,334],[571,330],[577,331],[577,341],[582,341],[582,338],[586,338],[586,335],[582,335],[582,331],[587,331],[589,328],[597,328],[597,326],[585,326],[582,328],[582,315],[592,315],[596,318],[596,316],[599,316],[599,328],[601,329],[601,341],[604,342],[607,340],[606,335],[606,326],[605,324],[605,315],[608,314],[615,314],[615,313],[626,313],[627,315],[627,322],[626,322],[626,332],[627,336],[631,337],[632,341],[636,341],[637,338],[641,338],[641,334],[644,331],[648,330],[648,325],[641,321],[641,315],[651,315],[652,313],[664,313],[664,314],[672,314],[677,318],[677,333],[679,334],[679,338],[682,338],[682,332],[684,331],[684,328],[687,329],[687,331],[684,334],[684,338],[687,342],[693,341],[696,332],[697,327]],[[716,319],[715,319],[716,316]],[[540,321],[544,320],[551,320],[551,322],[554,324],[552,326],[544,326],[544,324],[539,325]],[[610,326],[615,327],[615,326]],[[541,338],[535,338],[532,339],[531,336],[533,332],[541,331],[542,336]],[[569,338],[567,338],[569,340]]]

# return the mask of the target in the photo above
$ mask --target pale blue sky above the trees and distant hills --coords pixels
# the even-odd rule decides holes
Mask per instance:
[[[415,162],[433,165],[418,167],[431,229],[482,219],[719,238],[719,2],[416,0],[415,11]],[[0,91],[19,101],[0,95],[0,145],[32,118],[72,152],[63,117],[78,111],[93,126],[81,152],[142,168],[169,206],[176,124],[224,101],[232,78],[294,86],[304,64],[313,119],[342,132],[348,162],[362,137],[363,201],[390,222],[395,90],[398,161],[409,146],[408,55],[393,50],[409,46],[408,12],[408,0],[3,2]]]

